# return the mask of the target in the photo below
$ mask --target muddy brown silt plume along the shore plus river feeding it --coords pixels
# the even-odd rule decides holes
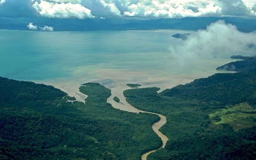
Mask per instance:
[[[220,64],[225,64],[227,62],[232,61],[231,59],[212,59],[208,61],[204,61],[204,63],[208,63],[207,68],[204,68],[205,64],[190,64],[188,66],[184,66],[180,68],[179,66],[173,67],[169,69],[168,72],[165,70],[156,70],[156,69],[130,69],[130,68],[109,68],[109,67],[99,67],[94,68],[92,66],[89,71],[88,68],[80,68],[78,70],[74,70],[73,74],[70,77],[59,77],[59,78],[49,78],[47,80],[31,80],[36,83],[43,83],[48,85],[53,85],[56,88],[61,89],[62,91],[68,93],[71,97],[76,97],[78,101],[83,101],[86,98],[86,95],[79,94],[78,88],[81,84],[86,82],[98,82],[105,87],[111,89],[112,95],[108,98],[107,102],[112,104],[114,108],[118,108],[120,110],[139,113],[143,112],[131,106],[123,95],[123,91],[127,89],[132,89],[126,85],[126,83],[134,83],[134,84],[142,84],[142,87],[160,87],[161,89],[158,92],[162,92],[166,88],[172,88],[179,84],[186,84],[194,79],[207,77],[214,73],[218,72],[226,72],[226,71],[216,71],[215,68],[220,66]],[[192,63],[192,62],[191,62]],[[21,79],[22,80],[22,79]],[[141,88],[141,87],[139,87]],[[77,94],[78,93],[78,94]],[[120,102],[117,103],[113,100],[113,97],[116,96],[120,99]],[[156,113],[152,113],[156,114]],[[161,116],[160,116],[161,117]],[[166,119],[166,118],[165,118]],[[153,130],[158,134],[158,136],[163,141],[163,148],[168,141],[168,138],[162,135],[158,129],[166,123],[164,118],[161,118],[159,121],[161,123],[156,123],[152,126]],[[154,152],[151,151],[150,153]],[[147,157],[148,154],[145,153],[142,156]]]

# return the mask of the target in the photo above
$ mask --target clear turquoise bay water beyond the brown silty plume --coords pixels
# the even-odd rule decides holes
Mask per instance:
[[[0,75],[43,80],[67,77],[76,68],[103,63],[114,68],[141,68],[144,64],[135,61],[152,60],[145,53],[168,52],[171,36],[166,31],[0,30]],[[155,63],[147,65],[157,67]]]

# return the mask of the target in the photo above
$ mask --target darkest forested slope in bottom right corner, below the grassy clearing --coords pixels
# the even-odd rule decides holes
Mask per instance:
[[[249,132],[249,133],[248,133]],[[234,132],[224,125],[183,140],[174,140],[148,159],[255,159],[256,127]]]

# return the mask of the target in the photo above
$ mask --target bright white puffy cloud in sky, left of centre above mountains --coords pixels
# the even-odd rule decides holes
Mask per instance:
[[[43,17],[50,18],[95,18],[91,10],[81,4],[72,3],[52,3],[41,0],[41,3],[35,2],[33,7]]]

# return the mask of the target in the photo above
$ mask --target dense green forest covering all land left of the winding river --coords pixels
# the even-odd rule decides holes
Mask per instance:
[[[161,146],[159,117],[113,108],[100,84],[83,86],[86,104],[43,84],[0,77],[0,88],[0,159],[140,159]]]

